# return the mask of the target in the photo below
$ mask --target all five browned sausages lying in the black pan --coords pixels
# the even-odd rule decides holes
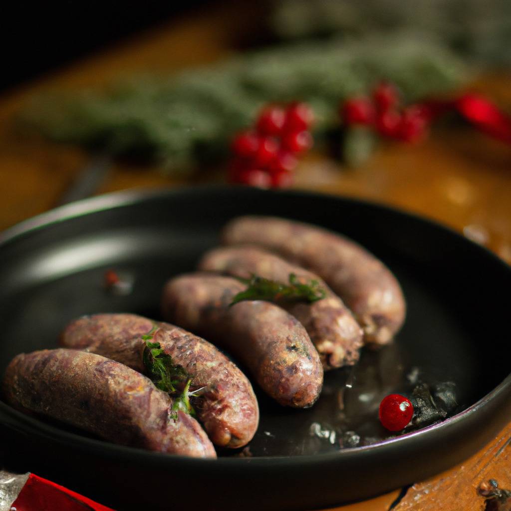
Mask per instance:
[[[403,293],[374,255],[338,234],[273,217],[240,217],[222,232],[198,272],[172,278],[161,309],[166,322],[134,314],[96,314],[69,324],[60,349],[16,356],[3,390],[12,406],[79,427],[110,442],[152,451],[216,457],[255,434],[259,408],[244,364],[283,406],[307,408],[323,371],[356,363],[363,344],[389,343],[405,318]],[[326,291],[313,303],[246,300],[231,306],[258,275],[312,280]],[[177,326],[176,326],[177,325]],[[192,377],[197,420],[146,376],[143,336]],[[193,332],[193,333],[191,333]],[[202,337],[210,339],[214,344]]]

